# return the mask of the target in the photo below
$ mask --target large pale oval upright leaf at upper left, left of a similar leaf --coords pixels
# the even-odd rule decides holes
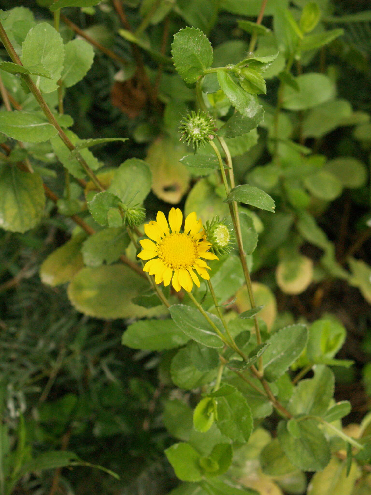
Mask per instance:
[[[31,76],[42,93],[51,93],[58,88],[64,60],[64,47],[60,34],[46,22],[33,27],[22,44],[21,61],[26,67],[41,64],[50,78]]]

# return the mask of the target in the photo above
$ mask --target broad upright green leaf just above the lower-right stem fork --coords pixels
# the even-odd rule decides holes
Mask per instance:
[[[288,409],[294,416],[325,414],[334,392],[335,379],[330,368],[318,365],[314,378],[301,380],[295,388]]]

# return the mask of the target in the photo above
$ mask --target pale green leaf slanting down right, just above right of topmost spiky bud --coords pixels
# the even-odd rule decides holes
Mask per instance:
[[[260,108],[256,95],[251,95],[243,90],[231,72],[218,71],[218,81],[234,108],[243,117],[252,119]]]

